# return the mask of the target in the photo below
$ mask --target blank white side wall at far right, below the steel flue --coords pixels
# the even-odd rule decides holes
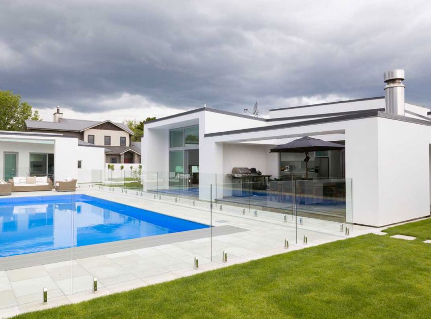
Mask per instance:
[[[380,225],[429,216],[428,126],[378,118]]]

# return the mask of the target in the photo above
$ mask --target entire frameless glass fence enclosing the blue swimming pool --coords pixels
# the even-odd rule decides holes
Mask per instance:
[[[113,180],[85,170],[80,176],[75,192],[0,197],[0,275],[7,278],[0,281],[0,314],[83,301],[361,231],[353,225],[350,179],[232,183],[223,174],[194,181],[124,172]]]

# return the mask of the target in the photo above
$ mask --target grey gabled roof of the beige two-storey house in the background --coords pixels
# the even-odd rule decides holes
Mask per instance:
[[[134,135],[133,132],[123,123],[114,123],[112,121],[87,121],[85,119],[73,119],[73,118],[60,118],[59,122],[48,122],[48,121],[31,121],[27,119],[25,126],[32,130],[51,130],[51,131],[68,131],[68,132],[82,132],[87,129],[93,128],[102,123],[112,123],[118,128],[126,131],[127,133]]]

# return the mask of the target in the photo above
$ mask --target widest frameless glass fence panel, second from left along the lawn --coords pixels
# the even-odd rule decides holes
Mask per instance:
[[[77,241],[84,246],[74,250],[82,272],[74,274],[73,298],[141,287],[210,267],[211,185],[190,190],[181,181],[187,176],[179,175],[142,172],[139,190],[111,183],[82,188],[94,198],[83,203],[91,220],[75,225]],[[94,278],[97,293],[92,292]]]

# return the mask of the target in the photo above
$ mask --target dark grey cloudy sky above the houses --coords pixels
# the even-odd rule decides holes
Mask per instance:
[[[383,95],[431,105],[426,1],[0,1],[0,90],[44,119],[242,112]]]

